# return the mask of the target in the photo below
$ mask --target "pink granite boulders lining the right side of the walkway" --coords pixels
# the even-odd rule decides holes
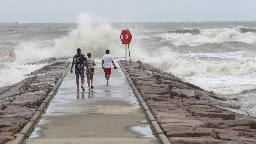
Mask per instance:
[[[234,112],[224,97],[141,61],[120,63],[170,143],[256,143],[256,117]]]

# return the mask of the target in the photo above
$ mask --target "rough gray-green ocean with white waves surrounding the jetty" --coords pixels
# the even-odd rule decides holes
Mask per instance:
[[[106,49],[115,60],[124,59],[123,29],[132,34],[132,61],[238,98],[225,102],[256,116],[256,21],[93,23],[80,15],[77,23],[0,23],[0,87],[46,65],[24,64],[50,57],[72,61],[77,48],[99,62]]]

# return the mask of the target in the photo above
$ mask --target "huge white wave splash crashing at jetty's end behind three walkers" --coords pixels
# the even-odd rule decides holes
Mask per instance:
[[[85,14],[78,16],[78,27],[70,29],[68,36],[53,40],[54,45],[40,46],[37,41],[20,42],[15,47],[13,54],[1,54],[0,62],[3,65],[17,66],[26,63],[34,63],[50,57],[73,57],[77,48],[82,53],[90,51],[94,56],[101,57],[105,50],[109,49],[112,55],[119,56],[124,52],[115,45],[119,34],[108,24],[102,24],[94,28],[90,17]],[[120,42],[121,43],[121,42]]]

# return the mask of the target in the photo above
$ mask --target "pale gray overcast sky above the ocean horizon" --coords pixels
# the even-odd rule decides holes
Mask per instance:
[[[0,22],[255,21],[256,0],[0,0]]]

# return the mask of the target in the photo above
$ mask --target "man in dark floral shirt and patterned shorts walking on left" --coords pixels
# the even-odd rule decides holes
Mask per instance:
[[[74,55],[73,57],[73,62],[71,65],[71,70],[70,72],[73,73],[73,66],[75,65],[75,75],[76,75],[76,83],[77,83],[77,91],[79,91],[79,76],[81,77],[81,88],[84,91],[84,83],[85,83],[85,68],[84,66],[86,66],[87,71],[89,71],[88,68],[88,63],[87,60],[85,58],[85,55],[81,54],[81,49],[78,48],[77,49],[77,54]]]

